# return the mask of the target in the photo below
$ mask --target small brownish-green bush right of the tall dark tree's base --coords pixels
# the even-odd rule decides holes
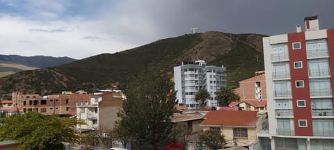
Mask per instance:
[[[191,129],[186,122],[180,122],[173,125],[172,131],[170,133],[170,138],[173,142],[180,142],[185,145],[188,142],[189,135],[191,134]]]

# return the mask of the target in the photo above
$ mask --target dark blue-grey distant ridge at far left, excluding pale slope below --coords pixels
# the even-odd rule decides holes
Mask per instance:
[[[68,57],[51,57],[51,56],[17,56],[17,55],[0,55],[0,63],[20,64],[30,67],[54,67],[74,62],[75,59]]]

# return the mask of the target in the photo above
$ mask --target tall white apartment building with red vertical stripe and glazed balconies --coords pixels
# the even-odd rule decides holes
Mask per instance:
[[[258,136],[267,149],[334,149],[334,29],[304,21],[305,31],[263,38],[269,131]]]

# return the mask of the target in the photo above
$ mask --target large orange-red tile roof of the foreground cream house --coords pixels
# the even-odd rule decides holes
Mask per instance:
[[[256,111],[209,111],[200,126],[243,126],[255,128]]]

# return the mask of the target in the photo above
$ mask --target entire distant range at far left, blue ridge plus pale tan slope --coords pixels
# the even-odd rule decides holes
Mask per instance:
[[[55,67],[75,61],[68,57],[0,55],[0,78],[24,70]]]

